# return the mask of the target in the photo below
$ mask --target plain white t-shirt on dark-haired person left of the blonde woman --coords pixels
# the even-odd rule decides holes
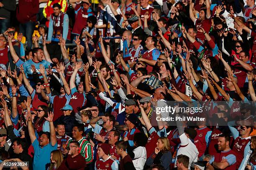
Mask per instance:
[[[147,160],[147,151],[145,147],[139,146],[133,150],[134,159],[133,165],[136,170],[143,170],[143,167]]]

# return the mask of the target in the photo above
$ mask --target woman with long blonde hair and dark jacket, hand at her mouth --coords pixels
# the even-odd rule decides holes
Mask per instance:
[[[155,152],[148,158],[146,165],[161,164],[165,170],[169,170],[171,163],[172,153],[169,139],[161,137],[157,140]]]

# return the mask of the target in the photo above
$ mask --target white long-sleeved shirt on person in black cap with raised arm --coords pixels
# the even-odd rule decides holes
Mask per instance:
[[[189,138],[187,138],[185,133],[180,135],[179,139],[180,139],[180,147],[177,152],[177,156],[178,155],[187,155],[189,157],[188,169],[190,170],[190,166],[192,165],[192,163],[197,162],[197,157],[198,157],[199,152],[198,152],[195,144],[192,143],[192,141]],[[184,147],[182,147],[182,146],[184,146]]]

